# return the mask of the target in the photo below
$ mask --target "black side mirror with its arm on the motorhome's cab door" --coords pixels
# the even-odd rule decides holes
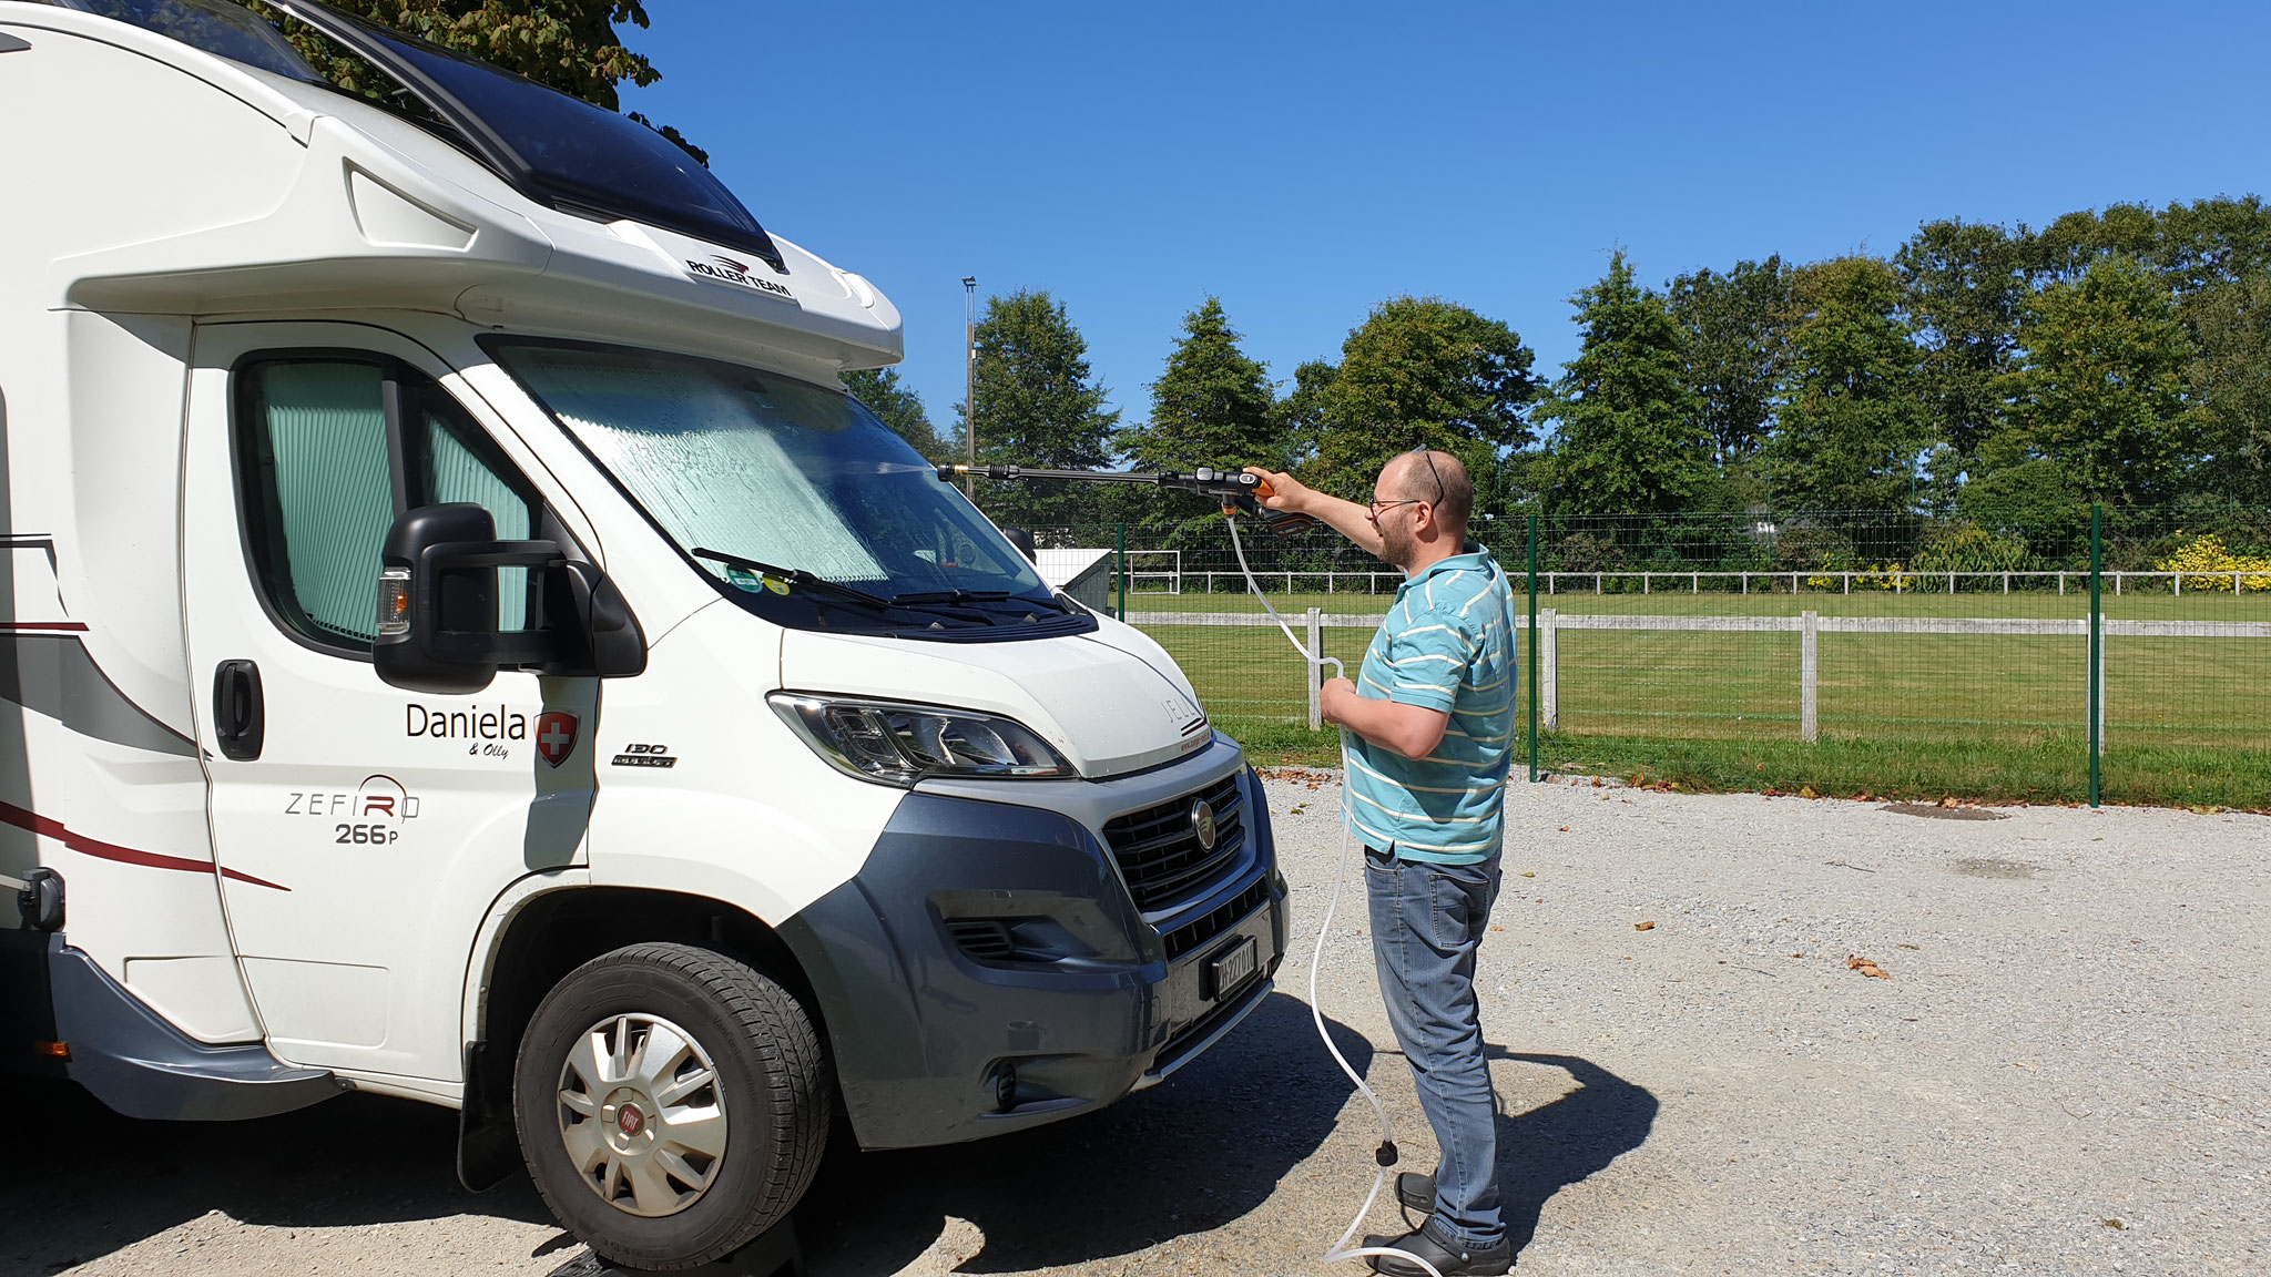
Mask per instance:
[[[497,629],[497,568],[543,582],[540,627]],[[370,661],[391,686],[463,695],[500,668],[618,677],[647,668],[647,638],[606,575],[556,541],[497,541],[470,502],[418,507],[379,550],[379,636]]]

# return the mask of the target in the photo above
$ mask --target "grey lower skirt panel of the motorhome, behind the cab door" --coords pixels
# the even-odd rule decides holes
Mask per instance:
[[[23,1016],[25,1025],[52,1025],[50,1041],[70,1050],[64,1075],[125,1116],[177,1122],[266,1118],[345,1091],[345,1082],[329,1070],[282,1063],[261,1043],[200,1043],[66,945],[64,936],[41,938],[45,945],[34,957],[45,968],[45,988],[16,984],[11,1023]]]

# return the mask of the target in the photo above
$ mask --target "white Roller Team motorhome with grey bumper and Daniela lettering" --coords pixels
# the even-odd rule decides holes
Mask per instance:
[[[1247,1016],[1258,782],[840,391],[893,304],[638,123],[279,7],[379,95],[223,0],[0,0],[7,1063],[459,1107],[470,1186],[677,1268],[831,1113],[1015,1132]]]

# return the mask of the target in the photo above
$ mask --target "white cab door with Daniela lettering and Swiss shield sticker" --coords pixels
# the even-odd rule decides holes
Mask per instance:
[[[395,332],[198,329],[182,502],[198,743],[236,954],[286,1061],[459,1079],[484,913],[584,854],[597,679],[500,673],[475,695],[420,695],[370,663],[395,516],[479,502],[500,539],[529,539],[547,518],[538,475]],[[525,570],[502,584],[513,629]]]

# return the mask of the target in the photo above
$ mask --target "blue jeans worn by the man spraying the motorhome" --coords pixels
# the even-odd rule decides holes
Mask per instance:
[[[1488,1250],[1506,1238],[1499,1213],[1499,1102],[1483,1063],[1474,952],[1499,898],[1499,861],[1438,866],[1365,850],[1372,957],[1381,998],[1413,1066],[1419,1107],[1435,1127],[1438,1241]]]

